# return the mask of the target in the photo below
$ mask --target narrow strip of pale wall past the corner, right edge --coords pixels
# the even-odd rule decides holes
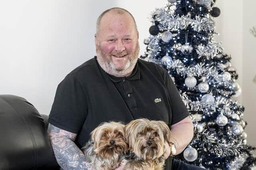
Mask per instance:
[[[256,37],[249,33],[249,29],[256,26],[256,1],[243,1],[243,104],[245,107],[244,117],[248,122],[246,133],[248,143],[256,146]],[[256,152],[255,152],[256,153]]]

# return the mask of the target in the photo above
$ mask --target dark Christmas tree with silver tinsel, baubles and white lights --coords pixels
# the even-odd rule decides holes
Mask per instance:
[[[152,12],[142,59],[164,67],[194,122],[194,138],[176,159],[210,170],[253,169],[241,88],[231,57],[214,41],[215,0],[168,0]]]

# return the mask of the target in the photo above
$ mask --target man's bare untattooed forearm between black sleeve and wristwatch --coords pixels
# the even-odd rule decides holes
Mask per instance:
[[[171,125],[172,143],[176,147],[176,154],[182,152],[194,136],[194,126],[189,117]]]

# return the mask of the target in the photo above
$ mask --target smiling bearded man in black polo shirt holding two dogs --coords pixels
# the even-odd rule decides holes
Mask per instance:
[[[176,154],[193,137],[193,125],[168,73],[138,60],[138,31],[133,16],[111,8],[97,20],[97,57],[78,66],[58,85],[48,133],[58,164],[65,170],[90,169],[80,150],[101,122],[148,118],[168,123]],[[157,102],[155,99],[158,99]],[[172,161],[166,145],[166,169],[197,169]],[[120,167],[119,169],[122,169]]]

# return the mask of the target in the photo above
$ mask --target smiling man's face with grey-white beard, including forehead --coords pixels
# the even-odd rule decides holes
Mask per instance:
[[[108,12],[95,35],[97,60],[100,66],[114,76],[128,76],[139,54],[138,32],[128,13]]]

